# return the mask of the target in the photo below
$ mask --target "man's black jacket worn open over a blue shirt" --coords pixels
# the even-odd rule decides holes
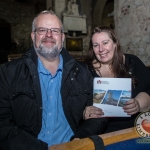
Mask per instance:
[[[63,48],[62,104],[74,137],[100,134],[105,121],[83,120],[92,105],[92,77],[85,64],[75,61]],[[47,150],[37,139],[42,125],[42,96],[37,55],[31,48],[22,58],[0,68],[0,149]],[[101,126],[101,128],[100,128]],[[61,133],[60,133],[61,134]]]

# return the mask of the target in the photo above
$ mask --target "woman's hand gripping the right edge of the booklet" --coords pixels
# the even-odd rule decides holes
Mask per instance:
[[[125,103],[123,109],[128,115],[133,115],[140,111],[140,105],[135,98],[132,98]]]

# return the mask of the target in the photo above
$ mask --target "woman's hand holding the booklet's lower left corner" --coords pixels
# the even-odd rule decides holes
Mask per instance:
[[[85,120],[89,118],[101,118],[104,115],[102,109],[95,106],[87,106],[83,112],[83,118]]]

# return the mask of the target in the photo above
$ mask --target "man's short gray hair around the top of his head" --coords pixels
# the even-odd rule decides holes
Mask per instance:
[[[55,15],[59,19],[59,17],[52,10],[44,10],[44,11],[40,12],[39,14],[37,14],[37,16],[34,18],[34,20],[32,22],[32,32],[34,32],[35,29],[36,29],[36,19],[37,19],[37,17],[40,16],[40,15],[44,15],[44,14]],[[59,19],[59,22],[60,22],[60,25],[61,25],[61,30],[63,32],[63,24],[62,24],[62,21],[60,19]]]

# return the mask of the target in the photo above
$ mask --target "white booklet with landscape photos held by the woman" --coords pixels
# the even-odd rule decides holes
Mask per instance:
[[[131,78],[94,78],[93,87],[93,106],[104,117],[130,117],[122,107],[131,99]]]

